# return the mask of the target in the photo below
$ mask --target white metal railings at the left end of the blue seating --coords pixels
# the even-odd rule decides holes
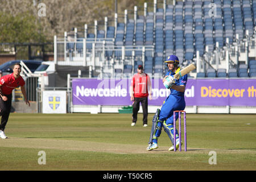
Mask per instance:
[[[64,39],[55,36],[55,50],[56,64],[59,64],[58,61],[80,61],[84,66],[88,64],[88,61],[95,60],[95,57],[125,59],[136,53],[138,55],[147,53],[151,56],[154,54],[154,46],[117,46],[114,39],[75,38],[68,40],[67,36]]]

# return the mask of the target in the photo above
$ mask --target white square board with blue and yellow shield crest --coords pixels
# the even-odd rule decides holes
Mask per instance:
[[[66,91],[43,91],[43,113],[67,113]]]

